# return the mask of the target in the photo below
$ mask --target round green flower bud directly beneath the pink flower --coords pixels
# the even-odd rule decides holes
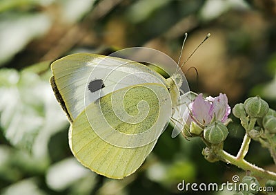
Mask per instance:
[[[208,125],[204,129],[204,139],[211,144],[219,144],[223,142],[228,136],[227,127],[220,121]]]

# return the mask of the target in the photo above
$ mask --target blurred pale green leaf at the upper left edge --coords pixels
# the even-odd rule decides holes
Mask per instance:
[[[43,13],[0,15],[0,65],[8,62],[32,39],[45,34],[50,29],[50,25],[50,18]]]

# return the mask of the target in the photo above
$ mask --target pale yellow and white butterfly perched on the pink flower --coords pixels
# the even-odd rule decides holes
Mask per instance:
[[[181,131],[187,99],[181,94],[189,89],[164,53],[128,48],[117,55],[124,58],[77,53],[57,59],[50,83],[70,121],[72,154],[97,174],[119,179],[144,163],[169,122],[172,137]]]

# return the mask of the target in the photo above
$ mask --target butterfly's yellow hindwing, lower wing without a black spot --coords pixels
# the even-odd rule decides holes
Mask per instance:
[[[154,90],[155,92],[151,94],[148,90]],[[125,97],[124,108],[130,115],[139,113],[137,112],[137,106],[133,106],[139,102],[139,98],[148,99],[147,102],[150,106],[148,115],[140,123],[124,122],[118,118],[118,115],[112,113],[112,97],[123,94],[127,96],[127,93],[130,93],[131,99]],[[158,100],[156,94],[162,94],[163,98]],[[141,144],[146,140],[145,136],[147,135],[140,139],[132,137],[132,135],[146,132],[150,126],[155,131],[164,130],[171,117],[170,108],[169,93],[166,87],[161,84],[129,86],[105,95],[87,106],[86,110],[82,111],[73,122],[69,133],[71,150],[75,157],[92,171],[110,178],[124,178],[141,166],[146,156],[152,151],[158,138],[152,138],[150,142]],[[162,113],[166,112],[160,116],[160,111]],[[140,110],[140,112],[142,111]],[[118,114],[122,115],[121,113]],[[101,131],[92,129],[91,124],[95,128],[103,129]],[[125,137],[121,137],[116,132],[110,133],[114,131],[112,128],[117,132],[125,133]],[[106,133],[109,142],[99,137],[99,133],[102,133],[101,136],[105,136]],[[161,132],[159,133],[161,134]],[[137,142],[137,147],[132,147],[135,142]],[[118,147],[117,144],[124,145],[124,147]]]

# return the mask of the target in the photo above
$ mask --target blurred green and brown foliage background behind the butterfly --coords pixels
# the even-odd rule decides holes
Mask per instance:
[[[234,194],[179,192],[177,184],[226,183],[244,171],[208,163],[200,140],[165,131],[139,170],[123,180],[82,167],[68,147],[68,127],[50,88],[50,62],[70,53],[132,46],[161,50],[185,64],[190,90],[226,93],[233,107],[260,95],[276,109],[275,0],[1,0],[1,194]],[[188,68],[195,66],[199,73]],[[225,149],[237,154],[244,130],[233,116]],[[266,149],[251,142],[246,159],[276,171]],[[262,183],[262,180],[259,180]],[[262,183],[263,184],[263,183]]]

